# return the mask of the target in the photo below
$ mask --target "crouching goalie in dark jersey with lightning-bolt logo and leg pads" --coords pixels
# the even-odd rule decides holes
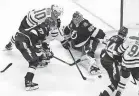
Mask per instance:
[[[91,74],[100,73],[94,53],[99,39],[105,37],[103,30],[94,27],[87,19],[83,18],[80,12],[76,11],[70,24],[64,29],[64,37],[65,40],[61,42],[63,47],[69,48],[69,42],[71,42],[72,48],[75,50],[81,49],[83,54],[80,64]]]

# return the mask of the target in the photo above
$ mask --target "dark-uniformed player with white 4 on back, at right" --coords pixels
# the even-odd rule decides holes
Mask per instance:
[[[126,27],[122,27],[119,30],[118,35],[114,35],[107,40],[106,48],[101,52],[101,64],[109,75],[111,85],[109,85],[108,88],[103,91],[103,93],[100,93],[99,96],[111,96],[112,92],[117,88],[120,80],[118,66],[122,60],[121,55],[118,55],[117,53],[117,49],[124,42],[127,33],[128,29]]]

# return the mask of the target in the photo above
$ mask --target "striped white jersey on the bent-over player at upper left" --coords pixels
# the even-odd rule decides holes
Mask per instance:
[[[31,27],[44,22],[47,17],[51,17],[50,8],[44,8],[41,10],[32,10],[29,11],[29,13],[27,14],[26,21],[27,24]]]

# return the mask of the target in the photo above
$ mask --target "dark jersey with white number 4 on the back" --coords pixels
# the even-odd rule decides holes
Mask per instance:
[[[119,35],[112,36],[106,45],[106,51],[110,57],[113,58],[113,55],[118,55],[117,50],[118,47],[124,42],[124,39]]]

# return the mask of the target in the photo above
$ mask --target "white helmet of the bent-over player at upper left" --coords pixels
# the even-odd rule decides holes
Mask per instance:
[[[59,7],[58,5],[52,5],[51,10],[57,18],[63,14],[63,8]]]

